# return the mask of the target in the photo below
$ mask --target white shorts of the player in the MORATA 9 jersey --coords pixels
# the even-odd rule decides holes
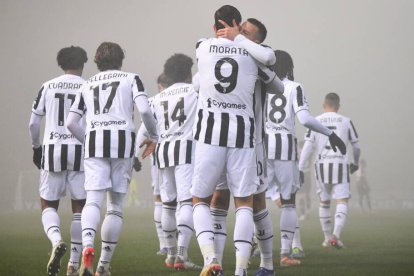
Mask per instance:
[[[254,148],[227,148],[196,142],[191,194],[206,198],[226,181],[234,197],[250,196],[259,185]]]

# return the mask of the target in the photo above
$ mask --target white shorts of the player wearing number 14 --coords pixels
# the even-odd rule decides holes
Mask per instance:
[[[193,165],[183,164],[159,169],[161,175],[160,192],[162,202],[178,202],[191,199]]]

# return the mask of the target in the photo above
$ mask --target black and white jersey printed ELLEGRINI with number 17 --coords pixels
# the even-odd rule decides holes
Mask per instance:
[[[147,97],[138,75],[119,70],[89,78],[71,112],[86,114],[85,158],[134,156],[134,100]]]

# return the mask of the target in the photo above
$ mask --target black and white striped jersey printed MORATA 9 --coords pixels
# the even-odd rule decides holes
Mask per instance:
[[[259,69],[235,42],[224,38],[197,44],[200,83],[194,139],[216,146],[252,148],[253,97]]]

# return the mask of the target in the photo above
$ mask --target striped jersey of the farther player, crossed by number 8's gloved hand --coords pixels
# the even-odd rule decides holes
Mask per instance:
[[[352,121],[336,112],[326,112],[316,117],[327,128],[333,130],[345,145],[358,142],[358,134]],[[315,171],[319,181],[326,184],[349,182],[348,154],[334,152],[329,138],[308,130],[305,140],[316,146]]]

